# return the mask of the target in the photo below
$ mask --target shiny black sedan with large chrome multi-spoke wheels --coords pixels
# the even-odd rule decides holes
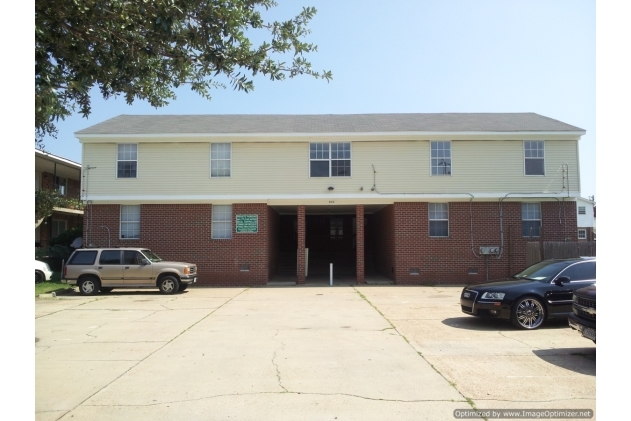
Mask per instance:
[[[520,329],[537,329],[548,319],[567,319],[574,290],[595,282],[595,257],[544,260],[511,278],[466,286],[460,305],[472,316],[506,319]]]

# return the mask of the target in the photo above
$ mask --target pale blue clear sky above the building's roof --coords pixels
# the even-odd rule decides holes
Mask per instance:
[[[581,196],[596,196],[596,4],[587,0],[278,0],[264,16],[317,14],[306,41],[316,70],[254,79],[250,93],[190,90],[163,108],[93,90],[92,114],[58,124],[45,150],[81,162],[78,130],[120,114],[357,114],[535,112],[586,131]]]

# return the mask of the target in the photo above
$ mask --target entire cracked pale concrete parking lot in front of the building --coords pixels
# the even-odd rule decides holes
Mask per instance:
[[[596,348],[460,312],[460,287],[37,300],[37,420],[435,420],[595,409]],[[545,390],[543,392],[542,390]]]

